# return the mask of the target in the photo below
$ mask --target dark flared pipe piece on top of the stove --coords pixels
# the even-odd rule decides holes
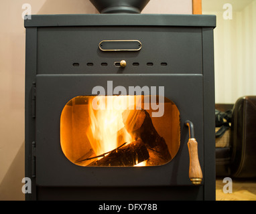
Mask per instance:
[[[150,0],[90,0],[100,13],[141,13]]]

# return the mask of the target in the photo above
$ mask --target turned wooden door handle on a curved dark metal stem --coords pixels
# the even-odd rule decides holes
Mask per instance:
[[[190,155],[189,178],[194,185],[200,185],[202,183],[202,170],[198,159],[198,142],[194,138],[194,125],[189,120],[185,124],[190,132],[190,138],[188,139],[188,152]]]

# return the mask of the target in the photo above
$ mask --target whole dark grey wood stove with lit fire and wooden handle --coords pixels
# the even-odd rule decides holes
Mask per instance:
[[[214,200],[215,17],[114,6],[25,19],[26,199]]]

